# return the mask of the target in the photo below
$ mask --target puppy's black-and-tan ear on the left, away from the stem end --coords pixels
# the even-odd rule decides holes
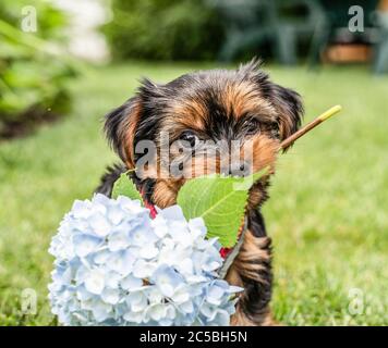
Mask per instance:
[[[108,141],[129,169],[135,167],[134,137],[142,109],[141,98],[136,96],[106,115],[104,129]]]

